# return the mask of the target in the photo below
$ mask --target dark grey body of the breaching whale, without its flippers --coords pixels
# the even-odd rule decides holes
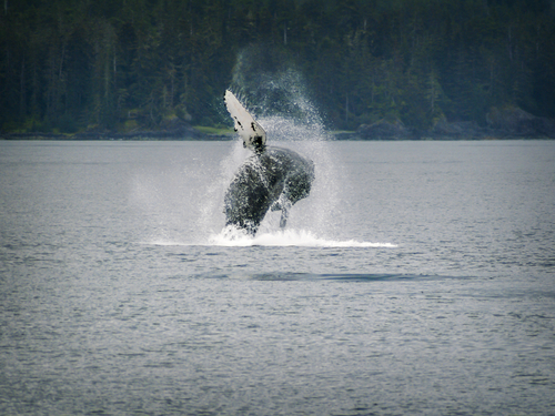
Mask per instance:
[[[225,225],[254,234],[282,193],[294,204],[309,196],[313,180],[311,160],[289,149],[266,148],[235,173],[224,199]]]

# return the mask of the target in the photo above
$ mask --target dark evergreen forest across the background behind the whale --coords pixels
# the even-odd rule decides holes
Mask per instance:
[[[331,130],[553,119],[554,19],[553,0],[3,0],[0,131],[229,128],[225,89],[289,70]]]

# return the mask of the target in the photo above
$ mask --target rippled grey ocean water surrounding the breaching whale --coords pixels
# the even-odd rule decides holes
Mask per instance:
[[[555,142],[278,144],[0,142],[0,414],[555,414]]]

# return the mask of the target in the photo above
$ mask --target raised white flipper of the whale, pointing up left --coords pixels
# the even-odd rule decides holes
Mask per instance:
[[[225,106],[235,122],[235,131],[243,139],[243,145],[251,150],[258,150],[266,144],[266,132],[245,110],[230,90],[225,91]]]

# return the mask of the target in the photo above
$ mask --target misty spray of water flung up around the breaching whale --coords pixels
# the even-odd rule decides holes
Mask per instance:
[[[330,134],[305,85],[302,73],[289,57],[271,48],[249,47],[238,55],[231,90],[266,131],[269,145],[294,150],[315,164],[311,195],[291,210],[287,229],[299,230],[302,224],[303,230],[333,240],[339,227],[334,213],[340,202],[343,168],[331,153]],[[221,177],[212,189],[212,194],[220,195],[216,199],[220,210],[234,172],[250,155],[240,142],[238,139],[230,155],[222,161]],[[216,189],[219,192],[214,192]],[[213,207],[206,209],[204,217],[213,211]],[[280,212],[269,212],[259,233],[278,230],[280,215]]]

